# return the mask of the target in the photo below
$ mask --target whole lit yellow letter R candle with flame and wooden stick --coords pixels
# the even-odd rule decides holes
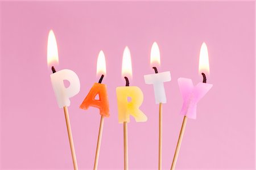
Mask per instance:
[[[147,116],[139,109],[143,102],[143,93],[137,86],[129,86],[129,79],[132,77],[131,54],[126,46],[123,52],[122,76],[126,80],[126,87],[117,87],[118,122],[123,124],[123,146],[124,146],[124,169],[128,169],[128,137],[127,122],[130,122],[130,115],[137,122],[146,122]],[[130,101],[129,101],[130,97]]]

